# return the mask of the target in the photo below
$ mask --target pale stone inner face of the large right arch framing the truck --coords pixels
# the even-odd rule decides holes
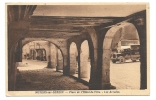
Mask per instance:
[[[102,55],[102,89],[110,88],[110,57],[112,49],[116,48],[122,39],[138,40],[137,29],[132,23],[124,22],[110,28],[103,40]]]

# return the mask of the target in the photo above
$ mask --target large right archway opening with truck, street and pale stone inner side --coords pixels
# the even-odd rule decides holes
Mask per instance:
[[[103,43],[102,83],[116,89],[140,89],[139,36],[131,23],[108,30]]]

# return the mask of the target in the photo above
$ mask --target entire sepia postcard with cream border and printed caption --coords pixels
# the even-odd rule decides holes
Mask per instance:
[[[6,96],[150,95],[149,3],[6,3]]]

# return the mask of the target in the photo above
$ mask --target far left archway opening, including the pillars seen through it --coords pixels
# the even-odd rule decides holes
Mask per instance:
[[[30,62],[32,62],[32,65],[37,62],[42,62],[46,64],[43,66],[43,68],[52,68],[56,71],[63,70],[63,56],[61,50],[55,44],[46,40],[33,40],[23,44],[22,63],[19,66],[27,66],[27,64],[30,64]],[[40,66],[40,64],[38,64],[38,66]]]

